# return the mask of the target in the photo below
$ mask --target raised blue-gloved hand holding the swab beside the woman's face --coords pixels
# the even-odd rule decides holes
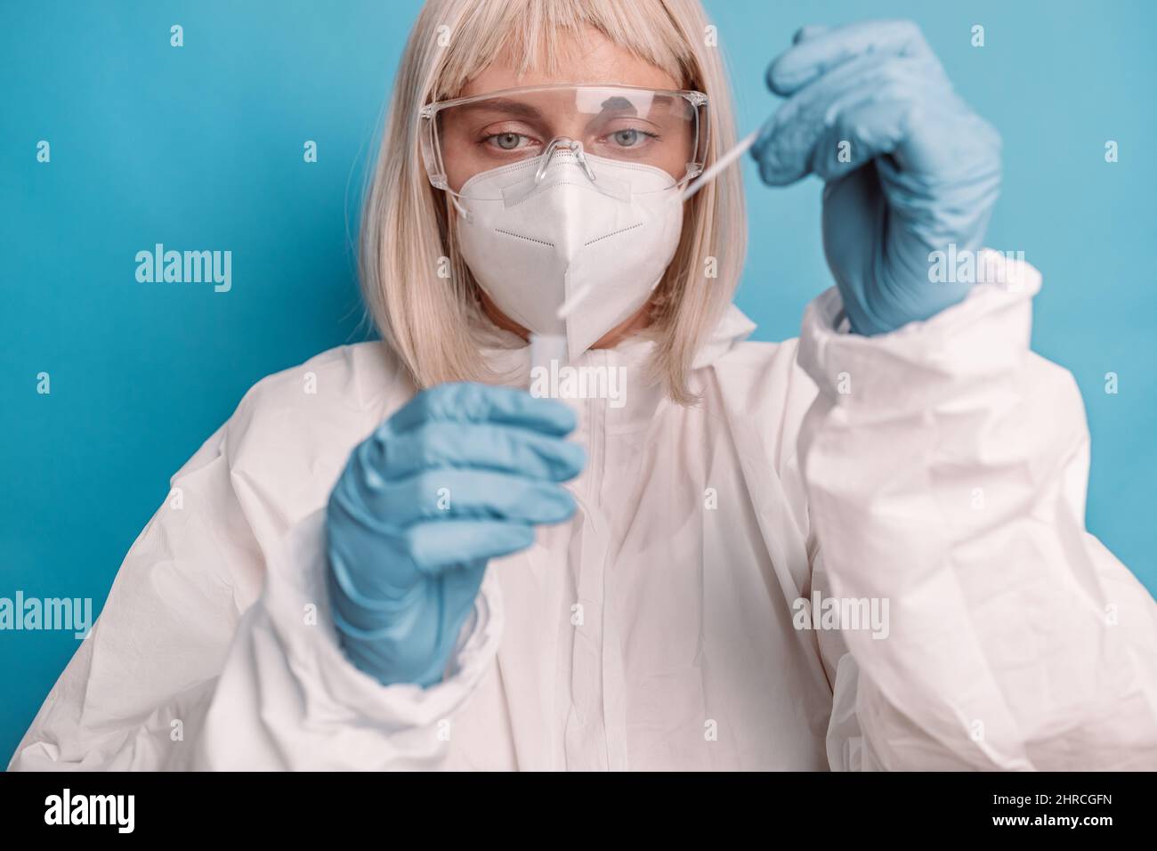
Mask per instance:
[[[853,330],[892,331],[964,299],[970,280],[929,280],[929,254],[981,247],[1001,140],[952,91],[916,25],[805,27],[767,85],[788,100],[752,155],[771,185],[825,181],[824,251]]]

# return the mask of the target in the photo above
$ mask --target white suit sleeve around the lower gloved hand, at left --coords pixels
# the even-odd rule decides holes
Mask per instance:
[[[264,518],[256,535],[238,499],[229,442],[245,405],[174,477],[9,769],[440,764],[445,721],[496,652],[496,587],[484,582],[442,683],[383,688],[354,668],[329,616],[324,509]]]

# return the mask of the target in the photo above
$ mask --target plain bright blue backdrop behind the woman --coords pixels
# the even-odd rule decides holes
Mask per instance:
[[[1157,588],[1157,3],[715,0],[740,132],[803,23],[911,17],[1001,130],[987,243],[1045,274],[1033,345],[1074,372],[1093,434],[1089,527]],[[0,596],[91,596],[169,476],[261,376],[364,337],[362,170],[418,2],[8,2],[0,8]],[[959,8],[967,6],[967,9]],[[169,45],[184,27],[185,46]],[[986,46],[970,44],[982,24]],[[52,161],[36,161],[46,139]],[[318,162],[302,160],[304,140]],[[1120,162],[1104,160],[1108,139]],[[761,186],[739,306],[798,332],[828,286],[819,184]],[[233,291],[138,284],[135,252],[230,249]],[[52,376],[50,396],[36,375]],[[1106,372],[1120,393],[1104,391]],[[7,761],[76,650],[0,632]]]

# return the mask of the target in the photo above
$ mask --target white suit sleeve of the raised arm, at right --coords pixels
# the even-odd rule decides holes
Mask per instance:
[[[1039,274],[927,322],[841,330],[828,291],[799,364],[819,387],[799,457],[817,586],[886,601],[843,629],[828,756],[849,769],[1157,768],[1157,606],[1084,528],[1073,376],[1029,350]],[[846,653],[837,648],[846,647]]]

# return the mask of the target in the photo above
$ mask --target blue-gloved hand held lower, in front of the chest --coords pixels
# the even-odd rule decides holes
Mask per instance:
[[[561,402],[486,384],[414,396],[362,442],[330,496],[326,572],[349,660],[381,683],[442,678],[486,563],[575,511],[583,448]]]

